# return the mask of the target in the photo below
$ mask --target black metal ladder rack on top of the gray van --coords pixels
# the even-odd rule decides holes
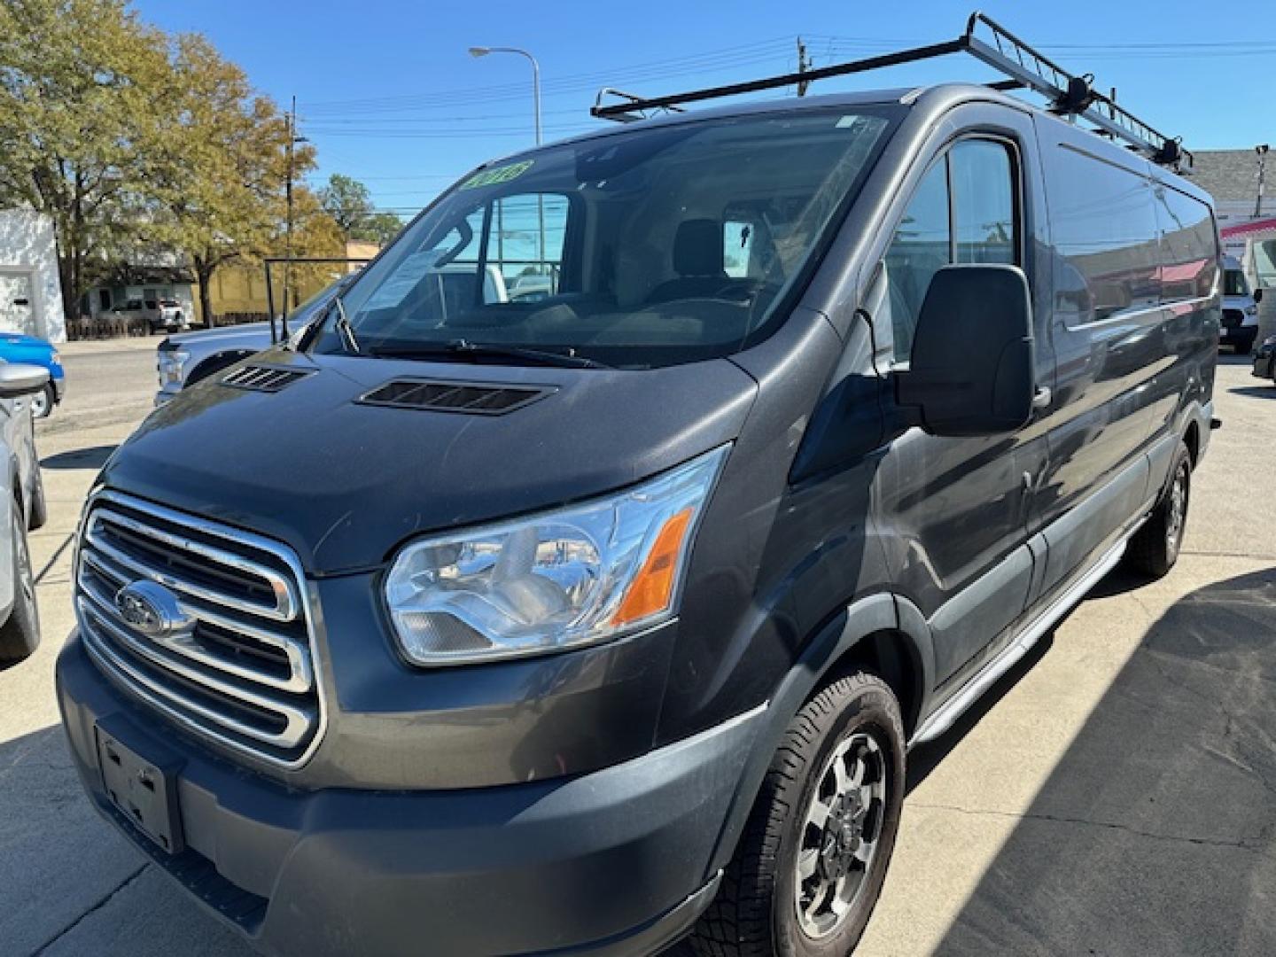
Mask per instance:
[[[721,87],[693,89],[686,93],[674,93],[662,97],[638,97],[633,93],[621,93],[616,89],[604,88],[598,92],[590,114],[600,119],[632,122],[634,120],[649,119],[657,112],[683,112],[684,103],[694,103],[702,100],[717,100],[718,97],[738,96],[740,93],[755,93],[762,89],[791,87],[798,83],[810,83],[818,79],[828,79],[829,77],[846,77],[852,73],[866,73],[886,66],[897,66],[900,64],[962,52],[970,54],[993,69],[1005,74],[1008,79],[988,84],[993,89],[1031,89],[1046,98],[1049,102],[1048,108],[1055,115],[1081,116],[1095,125],[1096,133],[1122,142],[1128,148],[1142,153],[1148,160],[1162,166],[1192,168],[1192,153],[1183,149],[1180,139],[1160,133],[1128,110],[1116,106],[1116,102],[1111,97],[1094,88],[1092,74],[1077,75],[1068,73],[990,17],[985,17],[981,13],[972,13],[970,15],[970,19],[966,20],[966,32],[956,40],[910,47],[893,54],[870,56],[865,60],[820,66],[814,70],[786,73],[778,77],[729,83]],[[604,102],[609,97],[619,100],[619,102]]]

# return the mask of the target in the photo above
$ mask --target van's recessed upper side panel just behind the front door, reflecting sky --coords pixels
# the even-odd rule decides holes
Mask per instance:
[[[1123,166],[1060,144],[1048,158],[1050,231],[1062,258],[1055,310],[1069,325],[1160,304],[1152,185]]]

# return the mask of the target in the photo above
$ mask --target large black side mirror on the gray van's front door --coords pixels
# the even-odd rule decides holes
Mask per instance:
[[[921,304],[896,399],[931,435],[995,435],[1032,416],[1032,302],[1014,265],[946,265]]]

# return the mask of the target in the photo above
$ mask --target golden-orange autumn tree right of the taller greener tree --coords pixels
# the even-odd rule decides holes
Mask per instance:
[[[286,216],[292,130],[276,105],[253,93],[244,71],[202,36],[174,43],[172,84],[160,171],[152,180],[157,234],[190,260],[204,322],[213,322],[209,287],[217,269],[273,249]],[[293,151],[292,175],[314,165]]]

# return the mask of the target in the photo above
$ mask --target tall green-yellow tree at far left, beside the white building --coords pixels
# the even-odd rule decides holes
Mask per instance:
[[[168,77],[163,34],[122,0],[0,4],[0,207],[54,218],[68,319],[94,254],[135,234]]]

